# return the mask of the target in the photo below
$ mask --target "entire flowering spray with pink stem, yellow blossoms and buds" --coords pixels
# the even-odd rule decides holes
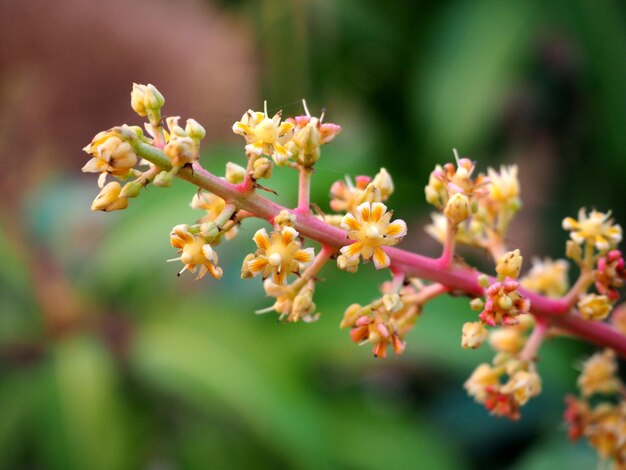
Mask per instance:
[[[313,297],[318,274],[329,261],[351,273],[361,262],[371,261],[375,269],[388,270],[390,280],[371,303],[350,305],[340,326],[350,329],[354,342],[369,343],[377,358],[389,350],[396,355],[405,351],[407,334],[427,302],[444,294],[465,295],[477,315],[459,332],[461,347],[475,349],[489,342],[496,353],[490,364],[477,366],[465,388],[490,413],[512,420],[541,393],[537,359],[545,340],[572,335],[596,343],[604,350],[584,363],[578,381],[581,397],[567,398],[565,420],[572,439],[585,437],[601,457],[626,465],[625,387],[615,359],[616,354],[626,355],[626,310],[616,307],[626,271],[617,249],[622,230],[610,213],[581,209],[577,219],[566,218],[563,228],[570,240],[565,254],[570,261],[535,259],[522,275],[522,254],[506,245],[522,205],[517,167],[475,174],[476,164],[455,150],[454,163],[437,166],[425,187],[426,201],[437,210],[426,230],[443,247],[438,258],[429,258],[395,247],[407,236],[407,224],[394,219],[387,206],[394,185],[385,169],[354,182],[335,182],[330,188],[333,214],[322,213],[310,200],[321,148],[341,128],[324,122],[323,114],[311,116],[306,103],[304,115],[288,119],[280,112],[270,116],[267,104],[262,112],[247,111],[233,125],[233,132],[245,140],[246,165],[229,162],[223,178],[199,163],[204,128],[193,119],[183,128],[180,118],[168,117],[165,129],[164,103],[153,85],[135,84],[131,106],[148,118],[146,133],[136,126],[113,127],[85,147],[91,159],[83,171],[99,173],[101,188],[92,210],[126,209],[129,199],[149,184],[168,187],[174,177],[188,181],[196,187],[191,205],[204,216],[172,229],[171,245],[180,256],[169,261],[183,264],[179,275],[197,272],[196,279],[207,273],[221,278],[216,247],[237,236],[244,220],[265,220],[270,231],[263,227],[254,234],[254,252],[244,257],[241,277],[262,278],[265,293],[275,300],[259,313],[274,311],[285,322],[319,319]],[[293,208],[260,194],[272,191],[260,181],[269,180],[275,167],[298,174]],[[110,177],[115,180],[107,183]],[[319,248],[305,246],[311,242]],[[458,257],[459,244],[489,253],[493,275]],[[571,287],[570,264],[579,271]]]

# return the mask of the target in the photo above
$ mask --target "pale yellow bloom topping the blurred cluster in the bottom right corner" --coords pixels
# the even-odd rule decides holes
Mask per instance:
[[[583,371],[578,377],[578,388],[585,397],[595,393],[615,393],[621,386],[616,373],[615,352],[612,349],[605,349],[585,361]]]

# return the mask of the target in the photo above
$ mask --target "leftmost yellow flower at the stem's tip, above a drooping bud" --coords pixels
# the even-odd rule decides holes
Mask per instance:
[[[125,176],[137,164],[137,155],[128,142],[112,132],[98,133],[83,150],[92,156],[82,171],[100,173],[98,186],[104,186],[106,175]]]

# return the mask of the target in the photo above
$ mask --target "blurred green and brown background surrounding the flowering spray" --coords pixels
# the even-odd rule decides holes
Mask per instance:
[[[248,109],[314,113],[342,134],[313,181],[381,166],[406,248],[436,255],[423,186],[452,148],[516,162],[511,245],[563,256],[580,206],[626,221],[626,8],[617,0],[0,1],[0,468],[593,468],[567,442],[563,396],[590,349],[546,345],[544,393],[519,423],[462,384],[488,347],[460,348],[463,299],[429,304],[404,356],[375,360],[338,328],[386,275],[323,270],[315,324],[279,324],[239,279],[259,227],[218,248],[224,278],[177,279],[168,233],[199,217],[182,181],[91,213],[80,149],[138,123],[131,84],[208,131],[203,164],[243,162]],[[295,175],[275,171],[279,200]],[[486,269],[481,253],[464,253]]]

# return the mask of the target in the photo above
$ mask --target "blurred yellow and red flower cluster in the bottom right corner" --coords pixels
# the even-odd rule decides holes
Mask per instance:
[[[615,353],[605,349],[583,364],[578,377],[581,396],[566,397],[565,422],[570,439],[582,437],[602,459],[626,465],[626,401],[617,376]]]

